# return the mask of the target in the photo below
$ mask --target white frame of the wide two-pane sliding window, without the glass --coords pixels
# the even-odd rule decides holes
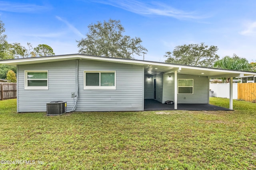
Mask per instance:
[[[115,85],[114,86],[100,86],[100,80],[99,80],[99,86],[86,86],[86,73],[106,73],[106,72],[112,72],[115,74]],[[99,75],[100,79],[100,75]],[[84,71],[84,90],[116,90],[116,71]]]

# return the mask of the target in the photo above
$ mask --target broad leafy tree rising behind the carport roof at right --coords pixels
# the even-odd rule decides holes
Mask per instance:
[[[218,47],[211,45],[189,44],[176,46],[172,52],[166,52],[166,63],[186,64],[211,67],[220,57],[216,54]]]

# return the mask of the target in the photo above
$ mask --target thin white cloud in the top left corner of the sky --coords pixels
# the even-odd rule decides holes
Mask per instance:
[[[49,7],[39,6],[35,4],[24,4],[17,2],[5,2],[0,1],[0,11],[7,12],[18,12],[18,13],[30,13],[30,12],[38,12],[43,10],[48,10]]]

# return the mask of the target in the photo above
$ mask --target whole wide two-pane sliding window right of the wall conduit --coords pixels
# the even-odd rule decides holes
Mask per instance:
[[[85,90],[115,90],[116,71],[84,71]]]

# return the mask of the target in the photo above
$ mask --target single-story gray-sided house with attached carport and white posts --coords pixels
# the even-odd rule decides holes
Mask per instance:
[[[71,54],[1,60],[17,66],[17,112],[46,111],[50,101],[66,101],[75,111],[143,111],[144,99],[208,104],[209,79],[256,75],[132,59]],[[231,81],[232,82],[232,81]],[[230,109],[232,103],[230,83]]]

